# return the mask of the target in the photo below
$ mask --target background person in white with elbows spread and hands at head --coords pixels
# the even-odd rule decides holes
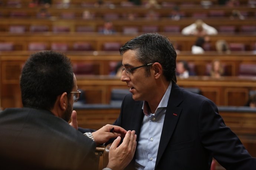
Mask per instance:
[[[196,20],[195,23],[183,28],[181,34],[183,35],[196,35],[196,36],[205,36],[205,35],[216,35],[218,31],[204,23],[202,20]]]

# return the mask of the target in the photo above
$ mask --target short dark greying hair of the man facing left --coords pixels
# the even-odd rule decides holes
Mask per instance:
[[[177,54],[167,37],[158,33],[142,34],[125,43],[119,52],[123,55],[127,50],[135,50],[136,58],[143,64],[159,62],[166,80],[177,82],[175,74]],[[145,69],[146,76],[149,76],[150,67]]]

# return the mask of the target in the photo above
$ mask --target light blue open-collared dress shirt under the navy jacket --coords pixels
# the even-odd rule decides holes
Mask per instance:
[[[137,143],[135,167],[137,170],[153,170],[157,160],[157,152],[164,124],[167,103],[171,92],[170,82],[157,110],[152,114],[148,112],[149,106],[144,101],[142,109],[145,114],[141,126],[140,137]]]

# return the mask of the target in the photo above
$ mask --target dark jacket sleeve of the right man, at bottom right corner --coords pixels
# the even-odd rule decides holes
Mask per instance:
[[[206,100],[202,103],[199,119],[201,142],[223,167],[227,170],[256,169],[256,159],[225,125],[213,102]]]

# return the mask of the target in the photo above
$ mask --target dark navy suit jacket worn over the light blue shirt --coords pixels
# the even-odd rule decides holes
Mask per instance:
[[[137,140],[144,116],[142,104],[143,101],[134,101],[132,94],[125,96],[114,123],[126,130],[135,130]],[[256,159],[224,124],[217,106],[173,82],[155,169],[209,170],[212,157],[226,169],[256,169]],[[135,156],[128,169],[133,168],[134,160]]]

